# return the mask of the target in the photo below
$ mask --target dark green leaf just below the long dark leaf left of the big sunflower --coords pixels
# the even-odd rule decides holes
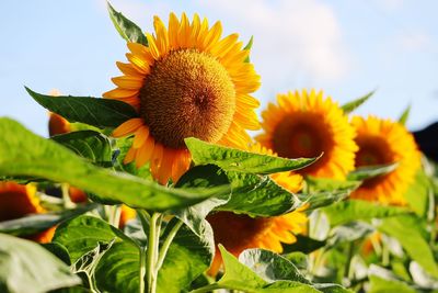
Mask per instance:
[[[80,131],[56,135],[53,140],[73,150],[79,156],[89,159],[91,162],[102,167],[113,166],[110,139],[93,131]]]

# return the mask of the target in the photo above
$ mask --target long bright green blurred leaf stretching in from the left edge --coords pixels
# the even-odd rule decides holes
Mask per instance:
[[[44,139],[9,119],[0,119],[0,176],[35,176],[94,193],[94,199],[164,211],[229,192],[229,185],[169,189],[127,173],[95,167],[59,144]]]

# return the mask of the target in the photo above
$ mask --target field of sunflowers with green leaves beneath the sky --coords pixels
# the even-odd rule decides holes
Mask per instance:
[[[49,138],[0,119],[0,292],[438,292],[438,169],[408,110],[299,89],[258,116],[252,40],[108,12],[113,90],[25,88]]]

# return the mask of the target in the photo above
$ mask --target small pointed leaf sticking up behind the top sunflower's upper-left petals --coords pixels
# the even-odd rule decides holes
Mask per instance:
[[[116,27],[117,32],[120,34],[126,42],[139,43],[141,45],[148,46],[148,40],[141,32],[141,29],[135,24],[132,21],[125,18],[120,12],[117,12],[110,2],[106,2],[108,8],[108,13],[111,21]]]

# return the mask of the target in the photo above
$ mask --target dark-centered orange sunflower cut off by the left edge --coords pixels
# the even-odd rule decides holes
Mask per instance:
[[[36,196],[35,185],[21,185],[12,181],[0,182],[0,222],[45,212]],[[54,228],[49,228],[26,238],[38,243],[49,243],[54,236]]]

